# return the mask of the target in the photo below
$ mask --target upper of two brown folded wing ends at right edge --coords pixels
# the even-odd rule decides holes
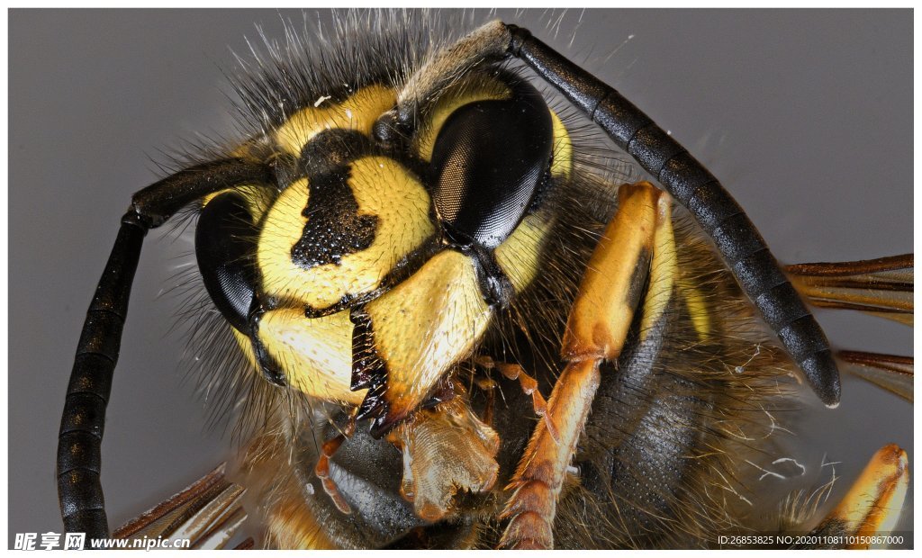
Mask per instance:
[[[810,304],[858,310],[913,325],[912,254],[858,262],[786,267],[794,287]]]

